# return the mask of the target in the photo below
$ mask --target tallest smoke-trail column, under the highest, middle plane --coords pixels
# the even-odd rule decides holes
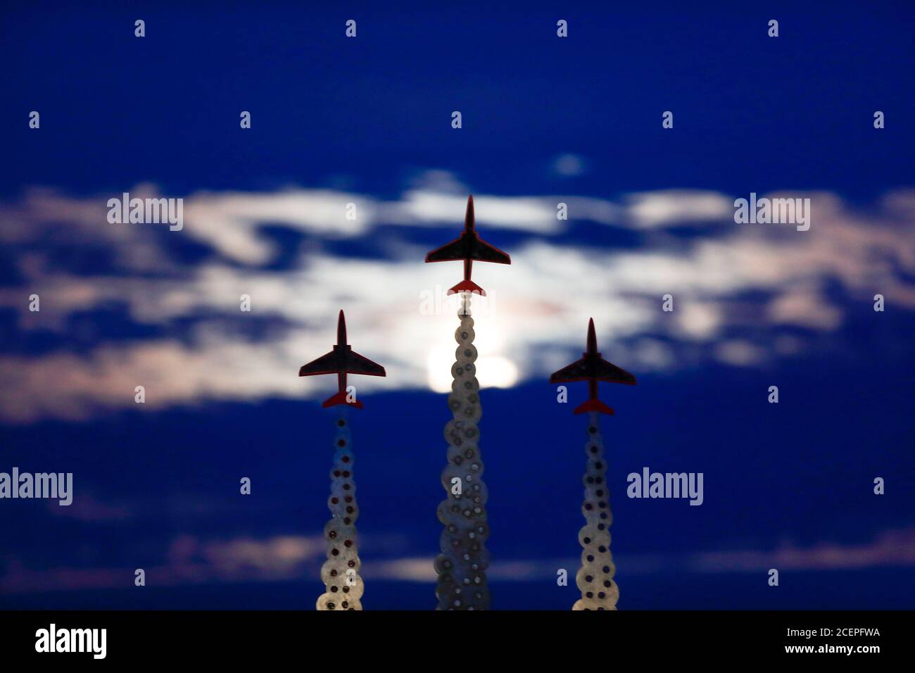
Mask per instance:
[[[438,610],[486,610],[490,590],[486,584],[489,552],[485,542],[490,528],[486,521],[486,484],[479,455],[482,415],[477,381],[477,349],[473,345],[470,292],[461,292],[460,326],[455,331],[458,349],[451,367],[454,382],[448,406],[454,415],[445,427],[448,464],[442,472],[447,497],[438,505],[438,520],[445,529],[436,558]]]

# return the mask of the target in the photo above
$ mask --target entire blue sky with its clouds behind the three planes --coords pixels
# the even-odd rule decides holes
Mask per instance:
[[[423,258],[468,193],[512,255],[474,268],[493,608],[578,598],[555,578],[579,563],[587,386],[557,404],[547,380],[590,317],[638,378],[600,387],[620,609],[915,607],[913,20],[5,8],[0,472],[73,472],[75,493],[0,500],[0,607],[313,608],[336,382],[296,373],[344,309],[388,370],[350,415],[362,602],[432,609],[458,320],[419,306],[460,265]],[[183,198],[184,228],[108,223],[124,191]],[[735,223],[751,192],[810,198],[810,231]],[[703,505],[630,499],[643,467],[702,472]]]

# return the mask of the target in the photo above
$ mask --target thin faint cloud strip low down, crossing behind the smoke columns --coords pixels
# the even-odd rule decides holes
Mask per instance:
[[[326,558],[322,536],[287,535],[266,538],[228,537],[201,539],[181,535],[172,539],[165,558],[147,564],[146,578],[156,586],[252,581],[297,581],[310,573],[317,577]],[[864,570],[915,567],[915,526],[884,530],[870,542],[842,544],[820,542],[808,547],[780,545],[770,549],[701,551],[686,555],[614,555],[621,573],[759,572],[784,570]],[[490,581],[554,580],[556,570],[574,575],[580,565],[568,559],[498,559],[490,564]],[[59,592],[113,589],[132,586],[134,568],[57,567],[30,570],[15,559],[0,578],[0,593]],[[436,581],[432,557],[363,559],[360,570],[366,581]]]

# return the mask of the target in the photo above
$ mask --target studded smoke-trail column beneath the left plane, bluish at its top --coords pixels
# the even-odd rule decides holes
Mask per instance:
[[[324,526],[328,559],[321,566],[325,592],[318,598],[318,610],[361,610],[362,578],[359,575],[359,548],[356,541],[356,483],[353,480],[353,454],[350,450],[350,424],[346,407],[337,418],[334,440],[334,467],[330,471],[330,520]]]

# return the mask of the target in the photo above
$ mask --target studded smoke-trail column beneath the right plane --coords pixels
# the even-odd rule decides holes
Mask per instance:
[[[604,440],[600,434],[599,414],[592,411],[587,418],[585,502],[581,506],[586,523],[578,531],[582,552],[581,568],[576,574],[581,599],[576,601],[572,609],[616,610],[619,587],[613,581],[617,569],[610,554],[610,524],[613,523],[613,515],[610,512]]]

